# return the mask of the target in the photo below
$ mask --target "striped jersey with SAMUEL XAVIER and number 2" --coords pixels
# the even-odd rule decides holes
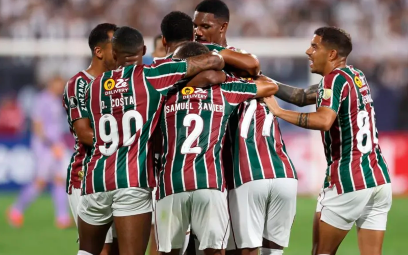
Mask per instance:
[[[197,189],[225,188],[221,152],[228,118],[253,98],[253,82],[233,77],[208,89],[185,87],[167,96],[157,197]]]

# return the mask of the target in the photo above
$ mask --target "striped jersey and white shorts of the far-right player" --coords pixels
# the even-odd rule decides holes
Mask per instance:
[[[320,219],[342,230],[350,230],[355,222],[361,228],[385,231],[391,180],[363,72],[347,66],[323,77],[317,107],[337,114],[330,130],[321,132],[327,170],[316,209]]]

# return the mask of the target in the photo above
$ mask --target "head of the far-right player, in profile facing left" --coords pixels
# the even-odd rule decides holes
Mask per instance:
[[[335,27],[317,29],[306,50],[311,60],[311,72],[323,75],[326,68],[345,62],[352,49],[350,35],[344,30]]]

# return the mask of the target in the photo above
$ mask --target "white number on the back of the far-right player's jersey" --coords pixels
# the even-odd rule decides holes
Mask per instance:
[[[361,151],[362,154],[370,152],[373,148],[373,143],[378,143],[378,138],[376,137],[376,127],[374,120],[374,108],[371,108],[371,124],[373,134],[373,141],[371,141],[371,130],[370,130],[370,116],[366,111],[360,111],[357,114],[357,125],[359,126],[359,132],[357,132],[357,148]],[[366,144],[363,145],[364,137],[366,137]]]

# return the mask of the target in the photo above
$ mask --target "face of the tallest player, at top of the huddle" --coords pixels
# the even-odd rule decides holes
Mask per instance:
[[[194,34],[196,41],[220,44],[222,24],[212,13],[194,12]]]

